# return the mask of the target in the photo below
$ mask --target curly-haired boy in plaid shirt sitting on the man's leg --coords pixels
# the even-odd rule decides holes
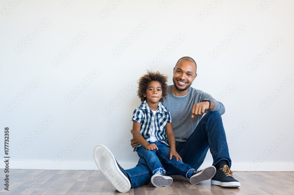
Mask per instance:
[[[173,179],[165,174],[165,170],[158,159],[176,169],[178,174],[190,179],[191,184],[198,184],[198,171],[182,162],[176,152],[175,136],[171,125],[171,115],[162,104],[167,95],[167,76],[147,71],[139,79],[137,94],[141,98],[141,105],[133,112],[133,137],[138,142],[133,148],[138,156],[146,159],[152,172],[151,183],[156,186],[169,186]],[[162,102],[162,103],[161,103]],[[158,157],[157,157],[158,156]],[[178,161],[180,159],[180,161]],[[211,166],[210,169],[215,169]],[[215,172],[215,170],[211,170]],[[203,179],[204,180],[204,179]],[[201,181],[203,181],[201,180]]]

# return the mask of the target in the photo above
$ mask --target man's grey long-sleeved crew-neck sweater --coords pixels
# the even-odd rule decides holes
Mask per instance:
[[[163,98],[163,105],[165,105],[171,113],[173,132],[177,142],[186,142],[195,130],[203,115],[195,115],[194,118],[192,118],[192,107],[194,104],[202,102],[203,99],[210,99],[215,103],[213,110],[205,110],[205,113],[214,111],[217,111],[220,115],[225,113],[224,105],[216,101],[208,93],[189,87],[187,95],[178,97],[171,92],[171,85],[168,86],[168,95],[166,99]]]

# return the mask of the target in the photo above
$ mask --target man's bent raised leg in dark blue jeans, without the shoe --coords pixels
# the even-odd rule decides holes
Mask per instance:
[[[213,157],[213,166],[221,160],[225,160],[228,166],[231,166],[225,130],[218,112],[206,113],[178,152],[185,163],[198,169],[204,161],[208,149]]]

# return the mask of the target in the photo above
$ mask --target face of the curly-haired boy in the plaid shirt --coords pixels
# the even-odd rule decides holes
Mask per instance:
[[[162,98],[161,84],[158,81],[151,81],[143,96],[146,97],[147,103],[158,103]]]

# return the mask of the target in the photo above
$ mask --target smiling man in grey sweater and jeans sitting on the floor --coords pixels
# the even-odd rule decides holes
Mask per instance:
[[[225,112],[225,107],[211,95],[190,87],[197,76],[196,70],[197,65],[192,58],[179,59],[173,68],[173,85],[168,87],[168,95],[164,100],[173,120],[176,151],[184,163],[197,170],[210,149],[216,173],[212,178],[205,179],[211,179],[214,185],[240,187],[230,170],[231,159],[220,116]],[[132,147],[136,144],[136,140],[132,139]],[[140,158],[136,167],[123,170],[111,152],[102,145],[95,147],[94,159],[118,191],[126,192],[150,182],[152,173],[145,159]],[[177,174],[164,163],[163,167],[167,175]],[[202,171],[199,171],[199,178],[203,179],[201,174]]]

